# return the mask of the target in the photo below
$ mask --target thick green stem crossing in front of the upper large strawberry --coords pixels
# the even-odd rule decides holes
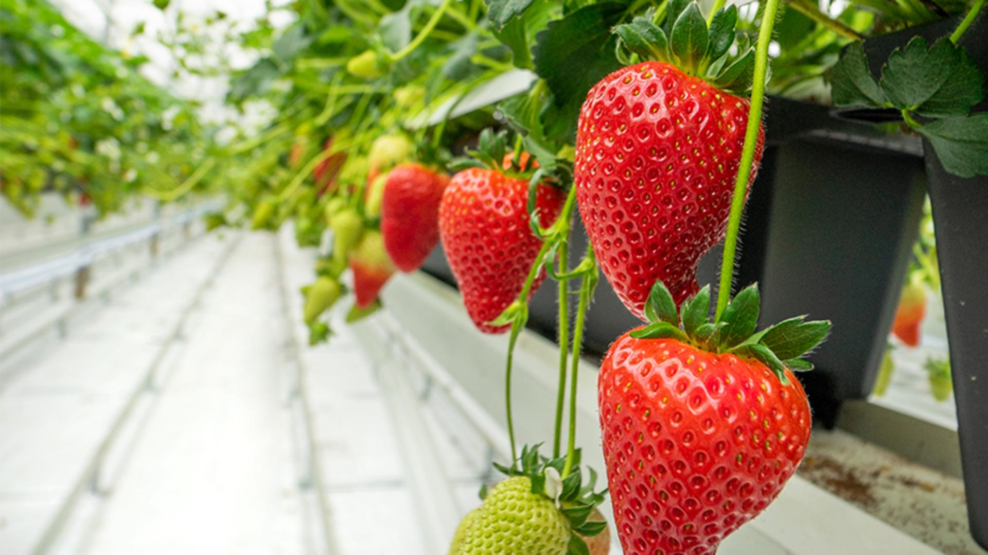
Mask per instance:
[[[755,50],[755,75],[751,89],[751,107],[748,110],[748,127],[744,134],[744,147],[734,181],[734,196],[731,198],[731,212],[727,219],[727,236],[724,239],[724,257],[720,264],[720,285],[717,288],[717,310],[714,322],[720,322],[720,315],[727,308],[731,296],[731,283],[734,279],[734,254],[737,252],[738,232],[741,228],[741,213],[744,210],[745,192],[748,178],[755,162],[755,145],[758,130],[762,125],[762,105],[765,101],[765,75],[769,67],[769,42],[772,41],[772,28],[776,23],[776,12],[780,0],[766,0],[762,25],[758,31],[758,46]]]

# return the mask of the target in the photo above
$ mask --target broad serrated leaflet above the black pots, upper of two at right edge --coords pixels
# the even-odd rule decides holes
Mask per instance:
[[[926,117],[963,116],[984,98],[984,75],[947,37],[929,49],[915,37],[893,50],[878,85],[893,106]]]

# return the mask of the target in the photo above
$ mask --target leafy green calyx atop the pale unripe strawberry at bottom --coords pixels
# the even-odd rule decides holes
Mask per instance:
[[[525,476],[532,481],[532,493],[543,496],[553,502],[569,521],[571,530],[569,540],[570,554],[587,553],[586,542],[580,536],[593,537],[607,527],[607,522],[588,520],[590,513],[604,503],[607,489],[595,492],[597,473],[587,467],[590,475],[586,484],[580,471],[580,449],[575,450],[575,461],[572,471],[561,478],[566,457],[550,459],[538,453],[541,443],[534,446],[522,446],[522,455],[511,467],[493,463],[494,468],[508,477]],[[480,488],[480,499],[487,497],[487,485]],[[582,549],[581,549],[582,546]]]

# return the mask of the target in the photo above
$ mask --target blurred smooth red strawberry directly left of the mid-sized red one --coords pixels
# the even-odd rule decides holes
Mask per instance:
[[[399,270],[417,270],[439,242],[439,203],[449,184],[449,177],[420,164],[399,164],[388,173],[380,231]]]

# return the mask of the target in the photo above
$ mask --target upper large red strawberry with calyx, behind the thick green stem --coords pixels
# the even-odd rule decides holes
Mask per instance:
[[[667,29],[702,31],[694,38],[699,43],[677,42],[675,35],[670,43],[648,18],[618,26],[622,44],[643,56],[657,54],[660,61],[618,69],[598,82],[587,94],[577,127],[574,183],[580,216],[617,297],[642,319],[656,279],[677,303],[697,292],[700,256],[726,231],[748,121],[748,101],[725,91],[745,88],[746,82],[738,82],[731,69],[711,70],[735,65],[712,62],[730,61],[736,9],[718,12],[708,40],[696,3],[681,6],[682,15],[669,14]],[[677,17],[690,25],[679,25]],[[659,44],[643,42],[659,35]],[[689,51],[698,44],[699,52]],[[752,56],[743,52],[738,63],[747,64]],[[667,62],[673,59],[679,65]],[[764,140],[760,130],[749,183]]]

